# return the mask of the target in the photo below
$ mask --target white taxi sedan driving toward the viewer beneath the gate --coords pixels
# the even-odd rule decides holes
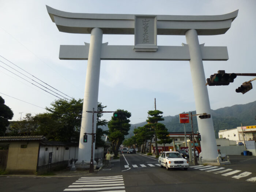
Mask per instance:
[[[188,170],[187,159],[182,158],[182,155],[176,151],[166,151],[158,158],[158,162],[161,167],[166,167],[166,170],[170,168],[183,168]]]

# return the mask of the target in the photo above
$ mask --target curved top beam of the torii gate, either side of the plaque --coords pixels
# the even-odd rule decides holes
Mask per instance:
[[[103,34],[134,34],[135,15],[71,13],[47,5],[46,8],[61,32],[90,34],[91,29],[98,27]],[[237,14],[238,10],[225,15],[157,15],[157,34],[185,35],[189,29],[196,29],[198,35],[224,34]]]

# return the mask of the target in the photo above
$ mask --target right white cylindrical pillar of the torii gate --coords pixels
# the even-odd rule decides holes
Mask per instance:
[[[196,104],[196,113],[208,113],[211,112],[210,101],[208,96],[208,90],[205,86],[205,75],[201,49],[198,41],[197,32],[195,29],[188,30],[186,32],[186,40],[189,47],[190,53],[190,71],[192,77],[192,84],[194,90],[195,104]],[[205,157],[204,151],[212,150],[217,151],[217,144],[215,140],[215,133],[212,118],[200,119],[197,117],[198,129],[201,135],[203,135],[201,143],[202,152],[200,157]],[[216,159],[217,156],[215,153],[207,153],[207,158],[204,158],[205,161]]]

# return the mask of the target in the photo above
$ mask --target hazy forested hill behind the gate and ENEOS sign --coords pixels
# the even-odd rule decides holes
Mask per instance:
[[[190,112],[182,113],[190,114]],[[196,112],[193,111],[192,114],[196,114]],[[241,123],[243,126],[256,125],[255,116],[256,101],[244,105],[233,105],[231,107],[211,110],[211,117],[214,124],[216,138],[218,138],[219,130],[240,127]],[[177,114],[176,116],[166,116],[163,118],[165,120],[161,123],[165,124],[169,132],[184,132],[184,124],[180,124],[179,114]],[[191,122],[191,120],[189,120],[189,122]],[[147,124],[146,121],[142,123],[132,124],[129,135],[127,135],[126,137],[129,138],[131,135],[133,136],[133,129],[135,127],[142,127],[145,124]],[[186,131],[191,131],[191,123],[185,124],[185,128]],[[193,117],[193,128],[195,132],[198,131],[196,117]]]

